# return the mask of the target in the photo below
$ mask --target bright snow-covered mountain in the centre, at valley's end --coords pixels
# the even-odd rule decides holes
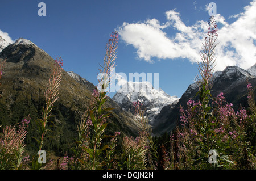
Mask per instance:
[[[150,124],[157,121],[156,115],[162,107],[174,105],[179,101],[177,96],[170,96],[162,89],[154,89],[150,82],[127,82],[112,98],[126,111],[134,113],[133,103],[139,101],[146,110]]]

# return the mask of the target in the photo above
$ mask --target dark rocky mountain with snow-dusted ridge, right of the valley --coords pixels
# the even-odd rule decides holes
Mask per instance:
[[[255,65],[253,67],[249,70],[255,70]],[[220,92],[224,92],[226,102],[232,103],[236,111],[240,106],[247,107],[247,83],[251,83],[254,88],[254,94],[256,95],[256,76],[251,75],[249,71],[237,66],[228,66],[223,71],[216,71],[213,77],[212,96],[217,96]],[[195,98],[197,91],[199,91],[199,87],[196,83],[193,83],[188,86],[188,89],[174,107],[163,107],[159,114],[162,119],[159,119],[158,125],[153,127],[153,132],[158,135],[164,132],[171,132],[179,123],[180,106],[186,108],[188,99],[197,99]]]

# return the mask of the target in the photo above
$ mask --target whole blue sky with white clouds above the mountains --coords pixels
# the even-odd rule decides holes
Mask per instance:
[[[46,3],[46,16],[38,15],[39,2]],[[254,65],[256,1],[249,0],[1,0],[0,35],[31,40],[52,58],[61,56],[64,70],[97,85],[106,43],[118,30],[115,72],[159,73],[159,87],[181,97],[197,74],[210,2],[217,5],[217,70]]]

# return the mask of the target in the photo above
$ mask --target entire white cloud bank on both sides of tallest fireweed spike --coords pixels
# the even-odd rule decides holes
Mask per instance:
[[[207,6],[205,6],[207,7]],[[256,62],[256,0],[244,8],[237,18],[229,24],[226,19],[217,14],[218,46],[216,49],[216,70],[223,70],[228,65],[250,68]],[[157,19],[147,19],[144,22],[123,22],[118,28],[121,39],[137,49],[138,58],[154,62],[153,58],[175,59],[187,58],[192,63],[200,61],[201,44],[207,33],[207,21],[199,20],[191,26],[185,25],[180,13],[174,10],[166,11],[166,22]],[[177,30],[175,35],[167,35],[164,30],[172,27]]]

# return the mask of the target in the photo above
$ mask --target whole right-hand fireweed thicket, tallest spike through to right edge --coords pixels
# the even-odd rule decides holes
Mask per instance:
[[[172,169],[251,169],[255,164],[255,144],[253,148],[250,142],[253,137],[255,142],[255,119],[251,119],[242,107],[234,112],[232,103],[226,103],[222,92],[216,98],[210,94],[217,46],[217,26],[213,17],[208,29],[199,64],[201,78],[197,75],[199,100],[188,100],[187,110],[180,107],[181,127],[170,139]],[[247,89],[249,106],[254,107],[250,85]],[[208,162],[208,152],[212,149],[218,152],[217,164]]]

